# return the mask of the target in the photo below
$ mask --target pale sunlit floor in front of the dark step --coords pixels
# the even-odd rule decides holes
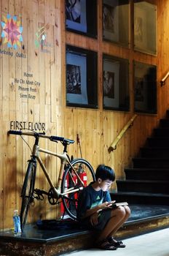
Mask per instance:
[[[71,256],[169,256],[169,228],[123,240],[125,248],[116,251],[88,249],[72,252]]]

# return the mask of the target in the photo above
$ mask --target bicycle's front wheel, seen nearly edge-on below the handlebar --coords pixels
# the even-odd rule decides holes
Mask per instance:
[[[28,216],[28,208],[30,203],[34,200],[34,179],[35,179],[36,167],[33,162],[28,163],[28,169],[25,174],[25,180],[23,182],[23,189],[21,192],[22,205],[20,210],[20,225],[23,230],[25,222]]]

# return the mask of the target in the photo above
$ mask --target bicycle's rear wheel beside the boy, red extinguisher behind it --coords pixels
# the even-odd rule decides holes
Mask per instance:
[[[78,180],[71,165],[83,181],[83,184]],[[66,212],[72,219],[76,219],[76,207],[79,192],[83,187],[87,187],[90,182],[95,181],[95,173],[93,167],[85,159],[74,159],[71,162],[71,165],[66,167],[63,174],[61,192],[64,193],[66,191],[70,191],[71,189],[79,189],[77,192],[71,192],[66,194],[66,197],[62,197],[63,206]]]

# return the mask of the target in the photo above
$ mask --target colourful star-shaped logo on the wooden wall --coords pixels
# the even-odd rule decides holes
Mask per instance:
[[[4,38],[4,43],[7,43],[8,48],[17,49],[20,46],[20,42],[23,42],[22,32],[23,27],[20,26],[20,21],[17,21],[16,16],[7,15],[7,18],[3,16],[4,21],[1,21],[2,32],[1,37]]]

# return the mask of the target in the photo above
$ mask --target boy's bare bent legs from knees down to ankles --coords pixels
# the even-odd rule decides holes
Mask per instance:
[[[124,208],[123,206],[119,206],[117,209],[111,211],[111,218],[101,232],[101,235],[98,237],[98,241],[102,241],[103,239],[113,236],[129,216],[130,208],[128,207]]]

